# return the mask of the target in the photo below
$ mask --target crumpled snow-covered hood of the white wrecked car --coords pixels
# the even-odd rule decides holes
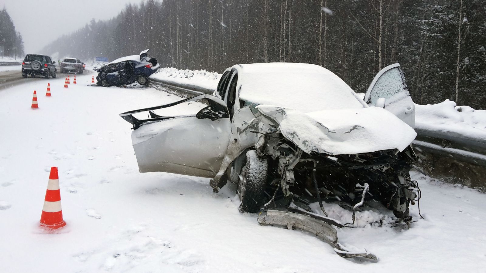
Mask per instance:
[[[259,105],[256,109],[274,119],[282,135],[306,153],[401,152],[417,136],[405,122],[378,107],[311,113],[273,105]]]

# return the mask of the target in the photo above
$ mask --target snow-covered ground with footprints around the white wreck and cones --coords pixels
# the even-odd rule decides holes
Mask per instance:
[[[140,174],[131,126],[118,114],[179,98],[77,79],[67,89],[57,78],[0,92],[1,272],[486,271],[485,194],[413,173],[426,220],[415,205],[408,230],[339,229],[343,244],[381,258],[346,260],[311,235],[239,213],[234,187],[215,194],[208,179]],[[68,223],[59,234],[38,229],[51,166]]]

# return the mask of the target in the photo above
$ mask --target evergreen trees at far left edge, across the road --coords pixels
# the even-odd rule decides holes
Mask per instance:
[[[5,7],[0,10],[0,48],[3,47],[2,56],[24,57],[24,41],[14,26],[14,22]]]

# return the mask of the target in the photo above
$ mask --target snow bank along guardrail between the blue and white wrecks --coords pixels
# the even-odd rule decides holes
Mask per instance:
[[[206,70],[161,68],[150,78],[177,85],[197,85],[205,89],[216,90],[221,75]]]

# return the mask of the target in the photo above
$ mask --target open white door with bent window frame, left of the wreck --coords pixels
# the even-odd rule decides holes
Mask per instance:
[[[207,103],[195,115],[160,116],[154,111],[182,102]],[[149,119],[134,114],[148,112]],[[146,115],[144,113],[144,115]],[[133,127],[140,172],[163,171],[212,178],[221,167],[231,134],[226,103],[209,94],[120,114]]]

